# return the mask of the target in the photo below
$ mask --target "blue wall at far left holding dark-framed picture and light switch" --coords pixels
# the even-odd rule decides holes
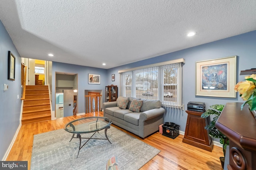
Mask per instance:
[[[8,51],[16,57],[15,80],[8,80]],[[4,157],[20,124],[21,58],[12,39],[0,21],[0,159]],[[4,91],[4,84],[8,90]]]

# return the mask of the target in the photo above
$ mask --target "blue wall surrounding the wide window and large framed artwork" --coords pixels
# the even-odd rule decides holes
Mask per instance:
[[[194,37],[196,39],[196,37]],[[134,68],[138,66],[160,63],[174,59],[184,58],[186,63],[183,66],[183,97],[184,97],[184,110],[166,109],[164,115],[164,122],[170,121],[180,125],[180,130],[185,131],[187,113],[186,104],[190,101],[205,102],[206,109],[213,104],[226,104],[227,102],[243,102],[237,95],[237,98],[216,98],[216,97],[203,97],[195,96],[195,77],[197,61],[204,61],[210,59],[218,59],[223,57],[238,56],[237,66],[237,82],[244,80],[244,76],[239,76],[241,70],[256,68],[256,31],[244,33],[234,37],[214,41],[204,45],[176,51],[166,55],[161,55],[151,59],[139,61],[136,63],[126,64],[115,68],[108,69],[108,83],[115,84],[120,87],[120,75],[118,70],[127,68]],[[111,74],[115,74],[115,81],[111,81]],[[118,94],[120,96],[120,94]]]

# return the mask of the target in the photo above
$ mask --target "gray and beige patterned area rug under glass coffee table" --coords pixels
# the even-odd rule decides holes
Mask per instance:
[[[82,134],[89,137],[92,133]],[[120,170],[138,170],[160,150],[110,127],[107,140],[90,139],[80,150],[79,139],[64,129],[34,135],[31,170],[105,170],[109,158],[116,156]],[[105,138],[104,130],[94,138]],[[70,142],[69,142],[70,141]],[[82,139],[82,144],[86,139]]]

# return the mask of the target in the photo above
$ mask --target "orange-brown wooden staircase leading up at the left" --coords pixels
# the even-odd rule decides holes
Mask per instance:
[[[51,119],[48,86],[26,86],[22,125]]]

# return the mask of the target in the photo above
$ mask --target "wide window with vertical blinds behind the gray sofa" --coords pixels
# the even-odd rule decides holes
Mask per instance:
[[[163,106],[182,108],[184,59],[121,70],[121,94],[126,97],[158,99]]]

